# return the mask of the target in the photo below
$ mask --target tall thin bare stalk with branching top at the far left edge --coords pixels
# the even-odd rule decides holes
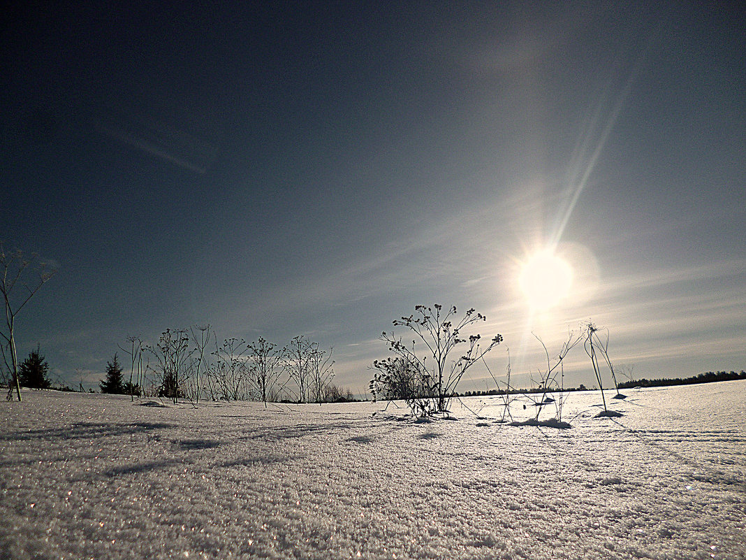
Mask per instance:
[[[36,262],[36,264],[34,264]],[[21,385],[18,378],[18,354],[16,352],[16,317],[41,287],[54,276],[54,270],[38,261],[37,255],[25,258],[22,251],[6,253],[0,242],[0,295],[5,308],[5,324],[0,329],[0,352],[5,367],[10,373],[7,399],[13,399],[13,388],[21,400]]]

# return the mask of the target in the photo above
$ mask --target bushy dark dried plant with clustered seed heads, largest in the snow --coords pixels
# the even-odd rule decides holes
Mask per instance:
[[[442,309],[439,304],[416,305],[414,314],[393,321],[395,327],[403,327],[414,335],[411,346],[393,332],[383,332],[380,340],[389,345],[394,356],[374,361],[376,374],[370,386],[374,396],[391,394],[404,376],[404,387],[410,391],[405,401],[413,414],[448,414],[448,403],[466,370],[501,343],[503,337],[496,335],[489,344],[480,346],[479,334],[466,335],[464,331],[485,321],[483,314],[471,308],[454,323],[456,306],[445,313]]]

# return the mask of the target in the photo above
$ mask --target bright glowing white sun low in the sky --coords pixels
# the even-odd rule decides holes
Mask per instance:
[[[521,267],[518,285],[532,309],[544,311],[564,299],[572,284],[572,268],[550,249],[531,255]]]

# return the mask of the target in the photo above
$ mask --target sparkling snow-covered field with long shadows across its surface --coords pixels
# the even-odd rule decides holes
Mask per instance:
[[[498,397],[414,423],[26,391],[0,403],[0,558],[745,559],[746,382],[625,393],[618,419],[571,393],[557,430],[495,423]]]

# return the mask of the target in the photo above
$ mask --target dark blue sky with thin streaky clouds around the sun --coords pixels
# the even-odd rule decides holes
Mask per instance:
[[[440,302],[519,384],[530,333],[583,320],[638,377],[746,367],[742,8],[247,4],[12,14],[0,238],[58,267],[19,354],[95,385],[126,336],[209,322],[333,346],[357,392]],[[546,246],[573,282],[532,312]],[[592,382],[582,349],[565,373]]]

